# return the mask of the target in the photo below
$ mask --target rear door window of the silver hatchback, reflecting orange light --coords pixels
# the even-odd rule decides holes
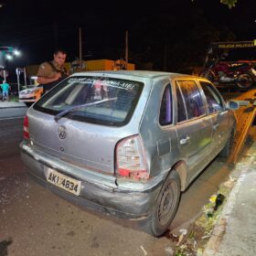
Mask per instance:
[[[195,80],[181,80],[177,82],[187,107],[187,118],[192,119],[206,114],[202,95]]]

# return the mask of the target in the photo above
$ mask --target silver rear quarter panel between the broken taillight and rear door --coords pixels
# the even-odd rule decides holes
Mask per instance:
[[[177,157],[175,125],[161,126],[159,124],[161,101],[168,83],[170,83],[169,77],[153,81],[153,88],[140,126],[140,135],[144,143],[150,176],[157,176],[160,173],[167,174]]]

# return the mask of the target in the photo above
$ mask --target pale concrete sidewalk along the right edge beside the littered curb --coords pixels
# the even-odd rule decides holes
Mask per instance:
[[[256,129],[203,256],[256,255]],[[232,174],[231,174],[232,175]]]

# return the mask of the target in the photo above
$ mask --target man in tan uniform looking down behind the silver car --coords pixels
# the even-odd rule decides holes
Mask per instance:
[[[56,49],[53,60],[42,63],[37,71],[37,82],[43,85],[44,93],[52,89],[61,80],[68,77],[64,67],[67,53],[63,49]]]

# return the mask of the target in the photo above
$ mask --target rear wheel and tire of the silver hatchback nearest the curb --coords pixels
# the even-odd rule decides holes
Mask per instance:
[[[175,170],[167,176],[157,197],[155,208],[146,220],[145,231],[155,237],[162,235],[175,218],[180,198],[180,179]]]

